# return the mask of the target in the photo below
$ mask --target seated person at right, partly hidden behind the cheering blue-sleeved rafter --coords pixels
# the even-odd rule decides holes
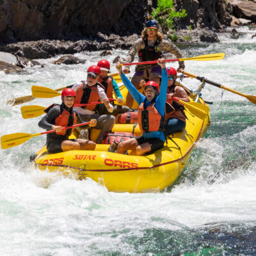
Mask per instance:
[[[184,113],[184,107],[178,102],[172,100],[175,97],[179,100],[189,102],[189,97],[184,88],[179,85],[175,85],[177,79],[177,71],[175,68],[167,68],[168,76],[168,88],[167,99],[165,108],[166,134],[173,134],[174,132],[183,131],[186,127],[186,115]]]

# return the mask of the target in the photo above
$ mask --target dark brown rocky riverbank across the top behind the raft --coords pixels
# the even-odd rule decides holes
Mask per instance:
[[[175,20],[175,31],[164,31],[164,35],[180,44],[219,42],[218,33],[227,26],[256,22],[256,0],[175,0],[174,3],[177,11],[186,9],[188,15]],[[34,60],[81,51],[129,49],[145,26],[145,17],[156,6],[156,0],[3,1],[0,51]],[[237,36],[236,29],[233,34]]]

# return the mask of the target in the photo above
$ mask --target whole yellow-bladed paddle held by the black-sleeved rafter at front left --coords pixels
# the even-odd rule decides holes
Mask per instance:
[[[74,127],[78,127],[78,126],[83,126],[86,124],[90,124],[90,122],[86,122],[86,123],[82,123],[82,124],[75,124],[75,125],[68,126],[68,127],[62,127],[61,129],[65,130],[65,129],[70,129],[70,128],[74,128]],[[29,133],[23,133],[23,132],[6,134],[1,137],[1,148],[6,149],[6,148],[16,147],[35,136],[39,136],[39,135],[47,134],[47,133],[51,133],[51,132],[56,132],[56,130],[51,130],[51,131],[46,131],[46,132],[38,132],[35,134],[29,134]]]

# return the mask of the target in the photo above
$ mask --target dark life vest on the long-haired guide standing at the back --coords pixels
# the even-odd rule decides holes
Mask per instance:
[[[149,46],[147,39],[144,40],[144,44],[145,48],[138,52],[140,61],[158,60],[162,57],[162,54],[158,51],[157,47],[159,44],[158,40],[156,40],[154,46]]]

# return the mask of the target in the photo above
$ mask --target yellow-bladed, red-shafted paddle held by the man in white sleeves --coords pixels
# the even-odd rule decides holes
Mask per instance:
[[[110,101],[116,100],[116,99],[109,99]],[[76,104],[74,105],[74,107],[82,107],[82,106],[88,106],[88,105],[95,105],[95,104],[102,104],[102,101],[97,101],[97,102],[90,102],[90,103],[85,103],[85,104]],[[28,119],[28,118],[33,118],[33,117],[37,117],[40,115],[45,114],[44,110],[46,108],[42,107],[42,106],[36,106],[36,105],[32,105],[32,106],[22,106],[20,108],[21,111],[21,115],[24,119]]]

